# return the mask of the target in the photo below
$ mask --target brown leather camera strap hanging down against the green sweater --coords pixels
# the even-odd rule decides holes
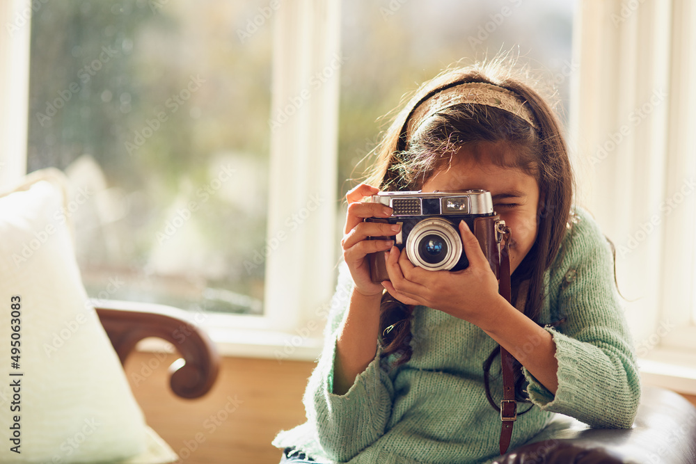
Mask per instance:
[[[500,250],[500,294],[512,304],[510,289],[510,229],[505,228],[505,246]],[[503,429],[500,430],[500,454],[505,454],[512,440],[512,426],[517,420],[517,401],[515,401],[514,358],[500,346],[500,362],[503,367],[503,401],[500,401],[500,420]]]

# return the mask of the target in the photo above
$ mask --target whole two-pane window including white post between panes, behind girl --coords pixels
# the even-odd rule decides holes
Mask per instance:
[[[377,118],[445,65],[509,50],[555,85],[567,119],[577,68],[573,1],[37,5],[27,164],[100,187],[76,216],[93,296],[119,273],[111,298],[205,310],[216,339],[283,332],[293,356],[325,314],[335,198]]]

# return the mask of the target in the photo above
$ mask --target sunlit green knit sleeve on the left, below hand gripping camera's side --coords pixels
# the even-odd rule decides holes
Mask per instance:
[[[308,421],[317,427],[319,445],[326,456],[339,462],[350,461],[384,434],[394,398],[392,381],[380,367],[379,347],[348,392],[333,394],[336,338],[351,289],[349,271],[342,265],[326,323],[324,349],[303,400]]]

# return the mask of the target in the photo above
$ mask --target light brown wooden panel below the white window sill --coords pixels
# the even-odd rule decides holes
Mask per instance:
[[[182,463],[280,461],[280,450],[271,440],[281,429],[304,422],[301,399],[312,362],[223,358],[211,392],[202,399],[184,400],[166,383],[166,370],[174,359],[133,353],[125,370],[148,424]]]

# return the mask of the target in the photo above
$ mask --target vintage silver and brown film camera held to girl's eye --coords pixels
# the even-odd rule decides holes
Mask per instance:
[[[368,222],[401,224],[401,231],[390,237],[406,250],[414,266],[431,271],[460,271],[469,265],[459,235],[459,221],[464,220],[477,237],[491,269],[498,276],[500,240],[505,221],[493,211],[491,193],[486,190],[424,193],[422,191],[380,192],[372,202],[393,209],[388,218],[365,218]],[[384,253],[368,255],[372,282],[389,280]]]

